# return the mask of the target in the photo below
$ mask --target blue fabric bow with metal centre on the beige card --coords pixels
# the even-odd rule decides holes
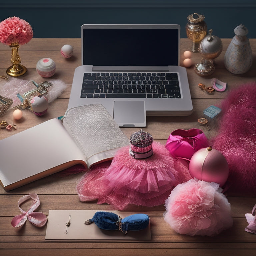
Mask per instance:
[[[146,228],[149,224],[149,216],[147,214],[137,213],[122,219],[113,212],[96,212],[92,219],[85,221],[85,224],[90,224],[92,222],[101,229],[119,229],[126,234],[128,230],[136,231]]]

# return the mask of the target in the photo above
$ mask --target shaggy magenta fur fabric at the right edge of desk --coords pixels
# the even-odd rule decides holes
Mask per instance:
[[[220,108],[219,133],[212,146],[227,159],[226,188],[256,193],[256,83],[230,91]]]

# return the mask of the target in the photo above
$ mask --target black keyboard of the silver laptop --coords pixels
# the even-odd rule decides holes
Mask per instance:
[[[177,73],[84,73],[81,98],[181,98]]]

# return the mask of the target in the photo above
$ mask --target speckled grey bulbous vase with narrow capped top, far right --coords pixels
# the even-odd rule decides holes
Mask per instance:
[[[224,56],[226,69],[233,74],[244,74],[252,66],[252,49],[248,37],[248,29],[240,24],[234,29],[235,36]]]

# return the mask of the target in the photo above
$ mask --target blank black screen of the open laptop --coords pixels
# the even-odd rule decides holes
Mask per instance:
[[[83,65],[179,65],[178,28],[84,28],[82,33]]]

